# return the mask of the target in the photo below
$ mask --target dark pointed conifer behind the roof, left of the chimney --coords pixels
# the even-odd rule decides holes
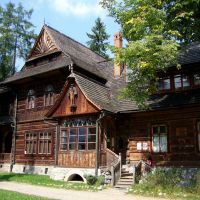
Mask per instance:
[[[90,38],[90,40],[87,42],[89,48],[101,56],[108,58],[108,55],[106,54],[108,42],[106,41],[110,36],[106,33],[106,26],[99,17],[95,21],[95,26],[92,28],[92,33],[86,34]]]

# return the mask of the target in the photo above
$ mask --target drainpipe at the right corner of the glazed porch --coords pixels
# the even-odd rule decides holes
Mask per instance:
[[[96,166],[95,166],[95,176],[98,176],[99,168],[99,122],[105,117],[105,113],[102,112],[99,118],[96,120]]]

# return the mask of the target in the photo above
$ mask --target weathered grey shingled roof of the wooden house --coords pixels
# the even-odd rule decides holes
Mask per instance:
[[[7,78],[4,83],[14,82],[16,80],[36,76],[42,73],[48,73],[49,71],[64,68],[73,63],[75,67],[78,66],[85,70],[85,75],[80,75],[77,73],[75,78],[81,89],[84,91],[85,95],[94,104],[98,105],[101,109],[105,109],[111,112],[138,110],[135,102],[119,99],[119,92],[121,88],[125,86],[126,82],[124,76],[117,79],[113,77],[113,63],[111,61],[107,61],[105,58],[91,51],[83,44],[64,35],[63,33],[60,33],[50,26],[44,25],[40,36],[42,35],[42,31],[46,31],[48,33],[51,42],[54,44],[54,49],[46,53],[51,54],[60,51],[65,56],[59,60],[51,61],[47,64],[42,64],[37,67],[23,68],[22,71],[16,73],[14,76]],[[34,48],[36,48],[38,41],[39,39],[36,41]],[[44,54],[41,53],[41,56],[43,55],[46,55],[45,52]],[[30,54],[29,60],[27,62],[38,59],[41,56]],[[181,65],[189,65],[200,62],[200,44],[191,44],[182,48],[179,54],[178,62]],[[87,72],[94,74],[96,77],[103,78],[106,80],[106,84],[102,85],[102,83],[92,80],[91,77],[85,77],[87,76]],[[167,102],[173,102],[174,98],[179,99],[181,96],[181,94],[173,95],[170,96],[170,94],[168,94],[166,98],[161,96],[154,96],[154,99],[151,99],[152,107],[158,108],[162,107],[163,105],[170,106],[170,104]],[[183,97],[186,98],[185,96]],[[180,99],[181,98],[182,96]],[[190,102],[190,100],[187,102]]]

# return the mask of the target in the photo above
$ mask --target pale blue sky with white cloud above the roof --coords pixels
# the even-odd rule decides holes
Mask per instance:
[[[106,25],[106,31],[110,35],[110,43],[113,44],[113,34],[119,31],[119,26],[114,19],[107,16],[107,11],[99,6],[99,0],[1,0],[0,5],[12,2],[22,3],[25,9],[33,8],[31,22],[35,25],[38,34],[44,24],[52,26],[58,31],[86,44],[86,33],[91,32],[95,19],[101,17]],[[22,61],[18,62],[22,65]]]

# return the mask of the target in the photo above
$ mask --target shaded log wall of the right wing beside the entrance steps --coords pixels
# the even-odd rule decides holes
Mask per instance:
[[[199,120],[199,106],[120,115],[117,140],[123,135],[126,149],[124,162],[147,160],[151,156],[156,165],[200,166],[197,141]],[[162,125],[166,126],[167,150],[155,152],[153,127]]]

